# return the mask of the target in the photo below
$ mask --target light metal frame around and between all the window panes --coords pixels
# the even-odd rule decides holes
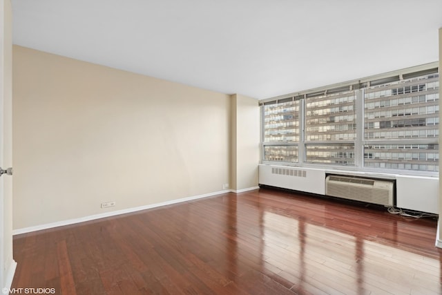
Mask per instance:
[[[374,168],[370,166],[365,166],[365,158],[364,158],[364,149],[365,146],[370,144],[439,144],[439,136],[438,137],[419,137],[419,138],[403,138],[403,139],[365,139],[365,91],[369,87],[372,86],[382,86],[383,84],[391,83],[396,84],[397,88],[401,88],[401,81],[406,79],[412,79],[415,77],[421,77],[426,75],[439,75],[439,64],[437,62],[425,64],[421,66],[415,66],[412,68],[406,68],[403,70],[396,70],[390,73],[384,73],[380,75],[374,75],[370,77],[366,77],[363,79],[352,80],[349,82],[344,82],[340,84],[334,84],[331,86],[324,86],[320,88],[315,88],[309,91],[303,91],[300,93],[291,93],[290,95],[282,95],[280,97],[273,97],[269,99],[262,99],[260,101],[261,106],[261,159],[260,163],[262,164],[277,164],[281,166],[303,166],[303,167],[311,167],[316,169],[345,169],[345,170],[354,170],[354,171],[367,171],[367,172],[375,172],[375,173],[383,173],[383,174],[409,174],[409,175],[421,175],[421,176],[437,176],[439,175],[438,171],[421,171],[421,170],[403,170],[403,169],[387,169],[387,168]],[[423,82],[421,84],[425,84],[425,90],[423,86],[420,84],[416,87],[410,86],[410,93],[415,93],[419,95],[423,93],[423,91],[427,92],[430,89],[427,89],[427,82]],[[436,89],[436,82],[432,84],[432,90]],[[440,95],[440,85],[439,85],[439,95]],[[306,117],[307,117],[307,102],[309,98],[318,97],[319,95],[325,95],[327,93],[340,93],[344,91],[352,91],[355,96],[355,124],[356,124],[356,136],[354,140],[334,140],[334,141],[319,141],[319,140],[306,140]],[[384,89],[380,90],[381,92]],[[408,88],[405,90],[405,86],[403,86],[403,91],[408,91]],[[385,93],[384,93],[385,95]],[[391,94],[390,94],[391,96]],[[398,95],[400,96],[400,95]],[[299,115],[298,115],[298,126],[299,126],[299,141],[298,142],[265,142],[265,111],[264,106],[267,104],[276,103],[278,101],[287,102],[287,99],[290,100],[299,100]],[[439,97],[441,99],[441,97]],[[410,99],[408,99],[410,100]],[[336,105],[338,106],[338,105]],[[404,108],[408,108],[408,106],[412,107],[413,103],[405,104],[404,99]],[[378,107],[382,109],[381,103]],[[439,105],[438,105],[439,108]],[[439,117],[439,116],[438,116]],[[436,121],[436,120],[434,120]],[[419,123],[420,124],[420,123]],[[439,123],[434,122],[434,125],[438,125]],[[373,129],[372,129],[373,130]],[[381,129],[379,129],[381,130]],[[317,144],[354,144],[354,165],[342,165],[342,164],[334,164],[334,163],[320,163],[320,162],[307,162],[307,148],[311,145]],[[297,162],[285,162],[285,161],[271,161],[265,160],[265,146],[297,146],[298,148],[298,161]],[[427,151],[425,149],[425,151]],[[439,153],[439,150],[435,150],[436,153]],[[439,166],[439,160],[435,161]],[[405,164],[407,164],[405,162]],[[410,163],[409,163],[410,164]],[[437,167],[436,167],[437,168]]]

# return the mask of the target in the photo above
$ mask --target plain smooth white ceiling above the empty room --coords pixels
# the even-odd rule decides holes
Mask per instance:
[[[439,59],[442,0],[12,0],[14,44],[264,99]]]

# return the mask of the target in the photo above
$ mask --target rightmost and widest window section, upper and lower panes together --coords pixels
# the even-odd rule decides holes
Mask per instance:
[[[365,88],[364,166],[439,171],[438,90],[438,75]]]

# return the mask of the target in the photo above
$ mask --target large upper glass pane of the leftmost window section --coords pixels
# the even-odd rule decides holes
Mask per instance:
[[[299,101],[264,106],[264,142],[299,141]]]

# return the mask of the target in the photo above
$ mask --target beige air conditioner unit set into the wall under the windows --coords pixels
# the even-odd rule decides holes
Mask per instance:
[[[343,175],[325,178],[325,194],[386,207],[394,206],[394,182]]]

